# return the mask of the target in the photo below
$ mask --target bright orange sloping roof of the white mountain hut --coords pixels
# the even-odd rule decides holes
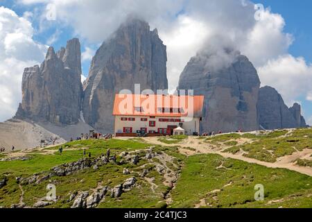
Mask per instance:
[[[204,96],[116,94],[113,115],[202,117]]]

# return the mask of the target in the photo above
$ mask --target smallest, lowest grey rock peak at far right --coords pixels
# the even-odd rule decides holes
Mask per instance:
[[[261,87],[257,108],[260,126],[266,130],[306,127],[301,106],[295,103],[288,109],[281,95],[272,87]]]

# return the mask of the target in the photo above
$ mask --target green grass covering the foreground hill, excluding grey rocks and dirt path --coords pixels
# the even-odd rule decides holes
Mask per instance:
[[[211,140],[216,139],[216,142],[231,146],[225,152],[237,153],[242,149],[247,151],[250,157],[269,162],[275,161],[279,156],[292,153],[292,146],[298,150],[309,148],[312,139],[311,130],[295,130],[292,135],[280,137],[283,133],[277,131],[272,135],[263,135],[265,138],[255,139],[252,144],[242,146],[234,144],[234,139],[239,138],[239,134],[220,135],[212,137]],[[183,137],[171,139],[183,141]],[[62,155],[58,153],[58,146],[55,146],[47,148],[54,151],[52,155],[33,152],[31,160],[0,162],[0,179],[4,177],[8,179],[8,185],[0,189],[0,206],[10,207],[12,204],[19,203],[21,189],[17,185],[16,176],[26,177],[38,172],[46,174],[51,167],[79,160],[83,157],[83,148],[87,148],[87,153],[91,152],[92,157],[96,157],[106,153],[107,148],[110,148],[111,154],[119,154],[122,151],[140,151],[149,146],[150,144],[137,139],[106,141],[89,139],[63,145],[66,148]],[[168,207],[194,207],[201,199],[209,203],[209,206],[205,207],[312,207],[311,196],[309,196],[312,194],[312,177],[301,173],[286,169],[270,169],[213,154],[187,157],[179,153],[178,146],[154,146],[153,152],[164,152],[173,157],[173,161],[166,162],[166,166],[171,171],[180,173],[175,189],[170,190],[164,185],[164,177],[156,170],[156,165],[161,162],[154,157],[151,162],[140,160],[137,165],[130,163],[119,165],[110,162],[99,167],[98,170],[85,169],[69,176],[53,176],[49,179],[51,181],[46,180],[38,185],[22,185],[24,203],[32,206],[38,198],[44,197],[47,192],[46,185],[51,182],[56,185],[59,199],[49,207],[71,207],[72,202],[68,203],[67,199],[74,191],[94,189],[98,182],[114,187],[125,179],[135,176],[139,187],[125,192],[120,198],[110,198],[107,194],[105,201],[98,207],[166,207],[164,194],[168,191],[171,191],[173,198],[173,203]],[[141,157],[145,155],[146,151],[139,153]],[[297,164],[312,167],[310,160],[297,160]],[[132,173],[123,175],[123,168],[130,169]],[[157,185],[155,192],[151,190],[150,184],[140,177],[144,169],[149,170],[146,177],[153,178],[153,182]],[[254,200],[254,185],[257,184],[262,184],[265,191],[265,200],[260,202]],[[216,189],[220,191],[212,194],[211,191]],[[270,200],[280,202],[270,203]]]

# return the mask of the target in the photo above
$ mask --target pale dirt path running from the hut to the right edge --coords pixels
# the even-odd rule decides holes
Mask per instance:
[[[270,167],[270,168],[284,168],[284,169],[290,169],[291,171],[297,171],[299,173],[306,174],[308,176],[312,176],[312,168],[311,167],[300,167],[296,166],[293,162],[294,160],[297,160],[298,158],[305,157],[312,154],[312,149],[305,149],[301,152],[293,153],[291,156],[285,156],[281,157],[277,162],[270,163],[270,162],[263,162],[260,160],[255,160],[252,158],[248,158],[243,156],[243,153],[239,154],[232,154],[232,153],[223,153],[222,151],[225,149],[223,146],[216,146],[213,144],[207,144],[200,142],[200,139],[197,137],[188,137],[183,142],[180,142],[178,144],[164,144],[162,142],[158,141],[159,138],[157,137],[145,137],[144,140],[150,144],[157,144],[162,146],[180,146],[180,152],[184,153],[185,155],[194,155],[196,153],[211,153],[211,154],[218,154],[223,157],[232,158],[234,160],[242,160],[245,162],[253,163],[253,164],[259,164],[264,167]],[[248,139],[243,139],[241,141],[238,141],[239,143],[245,143],[249,142]],[[189,151],[187,147],[194,148],[196,151]],[[228,147],[228,146],[227,146]]]

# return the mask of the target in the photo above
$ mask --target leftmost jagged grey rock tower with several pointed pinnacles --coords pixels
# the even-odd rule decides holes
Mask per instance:
[[[78,123],[83,92],[80,57],[80,42],[74,38],[57,53],[49,47],[40,67],[26,68],[17,119]]]

